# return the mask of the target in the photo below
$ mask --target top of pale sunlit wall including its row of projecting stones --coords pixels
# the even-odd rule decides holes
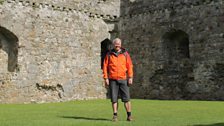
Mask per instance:
[[[120,15],[120,0],[2,0],[34,8],[47,8],[66,12],[81,12],[93,18],[116,20]]]

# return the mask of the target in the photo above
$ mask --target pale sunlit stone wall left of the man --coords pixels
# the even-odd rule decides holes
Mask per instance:
[[[104,20],[119,13],[106,7],[107,1],[112,15],[85,9],[81,5],[87,1],[74,1],[74,8],[61,2],[5,0],[0,5],[0,103],[106,97],[100,44],[110,38]]]

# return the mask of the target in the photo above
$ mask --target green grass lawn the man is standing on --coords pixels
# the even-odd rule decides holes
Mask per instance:
[[[134,121],[111,122],[109,100],[0,104],[0,126],[224,126],[224,102],[132,100]]]

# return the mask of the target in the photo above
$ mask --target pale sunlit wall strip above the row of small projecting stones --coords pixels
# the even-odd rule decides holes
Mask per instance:
[[[92,14],[120,15],[120,0],[29,0],[35,3],[43,3],[54,6],[73,8]]]

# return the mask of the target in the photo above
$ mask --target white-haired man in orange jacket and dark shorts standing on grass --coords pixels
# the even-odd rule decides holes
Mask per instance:
[[[121,40],[113,40],[114,48],[106,55],[103,64],[105,86],[109,86],[113,121],[117,121],[118,94],[127,112],[127,121],[132,121],[129,86],[133,83],[133,65],[128,52],[121,47]]]

